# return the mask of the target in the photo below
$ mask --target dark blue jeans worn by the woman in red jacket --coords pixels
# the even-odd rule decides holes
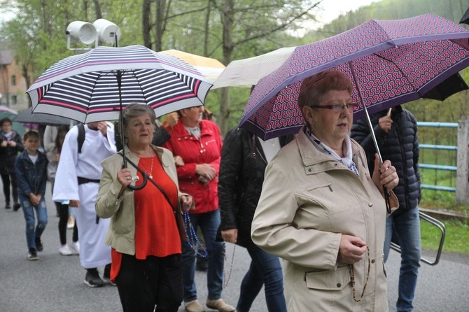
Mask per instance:
[[[204,236],[205,246],[208,252],[207,260],[207,288],[208,299],[220,299],[223,290],[223,265],[225,261],[225,243],[215,241],[216,231],[220,225],[220,210],[208,213],[190,213],[190,223],[197,231],[200,227]],[[197,247],[195,247],[197,249]],[[183,286],[184,302],[197,299],[195,287],[195,250],[187,241],[183,241]]]

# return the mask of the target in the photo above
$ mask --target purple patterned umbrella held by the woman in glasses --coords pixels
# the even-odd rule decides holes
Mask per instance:
[[[469,31],[436,15],[370,20],[331,38],[295,48],[260,79],[240,127],[262,139],[295,134],[304,125],[297,94],[304,78],[342,71],[360,103],[354,118],[424,97],[469,65]],[[366,106],[367,110],[364,110]]]

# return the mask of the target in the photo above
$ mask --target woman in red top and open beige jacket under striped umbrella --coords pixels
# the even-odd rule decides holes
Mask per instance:
[[[179,192],[172,153],[151,145],[153,109],[130,104],[123,114],[128,168],[123,169],[120,154],[104,159],[96,202],[97,215],[111,218],[106,235],[112,246],[111,281],[117,284],[123,311],[154,311],[156,306],[155,311],[176,312],[182,300],[185,236],[178,216],[182,208],[193,208],[193,198]],[[142,173],[148,176],[145,187],[130,190],[132,183],[141,185]]]

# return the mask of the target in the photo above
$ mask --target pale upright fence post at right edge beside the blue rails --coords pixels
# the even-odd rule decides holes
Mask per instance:
[[[458,121],[456,203],[469,204],[469,116]]]

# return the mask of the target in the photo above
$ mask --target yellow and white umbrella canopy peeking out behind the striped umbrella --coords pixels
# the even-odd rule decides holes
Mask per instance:
[[[200,55],[195,55],[179,50],[165,50],[160,52],[179,57],[186,63],[194,66],[195,69],[200,71],[200,73],[202,73],[202,75],[204,75],[204,77],[207,78],[207,80],[209,80],[211,83],[214,83],[216,78],[220,76],[223,69],[225,69],[225,65],[221,64],[218,59],[202,57]]]

